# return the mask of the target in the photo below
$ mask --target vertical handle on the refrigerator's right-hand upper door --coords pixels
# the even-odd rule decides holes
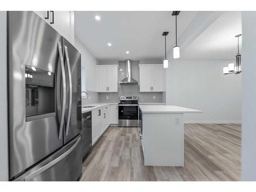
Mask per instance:
[[[71,70],[70,70],[70,62],[69,62],[69,52],[67,46],[64,46],[68,73],[69,73],[69,112],[68,112],[68,120],[67,120],[67,129],[66,136],[69,135],[69,124],[70,124],[70,116],[71,116],[71,108],[72,108],[72,78],[71,78]]]

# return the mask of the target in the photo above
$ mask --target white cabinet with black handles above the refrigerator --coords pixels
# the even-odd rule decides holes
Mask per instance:
[[[42,19],[65,37],[71,44],[75,43],[73,11],[34,11]]]

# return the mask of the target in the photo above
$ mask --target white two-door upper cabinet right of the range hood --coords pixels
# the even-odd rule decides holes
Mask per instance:
[[[163,92],[163,65],[139,65],[140,92]]]

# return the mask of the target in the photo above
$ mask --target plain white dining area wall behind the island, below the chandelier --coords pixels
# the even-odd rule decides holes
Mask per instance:
[[[166,71],[166,103],[202,110],[185,122],[240,123],[241,74],[223,75],[234,60],[175,60]]]

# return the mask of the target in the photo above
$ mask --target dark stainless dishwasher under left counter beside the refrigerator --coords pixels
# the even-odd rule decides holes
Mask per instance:
[[[92,147],[92,112],[82,114],[82,157]]]

